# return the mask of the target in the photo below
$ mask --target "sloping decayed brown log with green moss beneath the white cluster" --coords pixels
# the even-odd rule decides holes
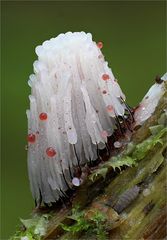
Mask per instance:
[[[11,239],[164,239],[167,236],[167,141],[166,123],[159,124],[159,119],[166,108],[167,92],[123,151],[87,177],[69,206],[34,210],[32,218],[23,221],[24,229]],[[152,126],[155,126],[153,134]],[[74,209],[82,213],[78,219]],[[105,216],[103,219],[99,215],[101,222],[95,218],[97,213]],[[82,220],[79,229],[76,224]],[[105,232],[103,238],[99,229]]]

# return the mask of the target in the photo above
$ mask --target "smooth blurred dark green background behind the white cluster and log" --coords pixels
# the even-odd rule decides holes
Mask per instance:
[[[33,209],[26,163],[27,85],[34,48],[67,31],[86,31],[103,53],[131,106],[165,72],[165,1],[2,2],[2,235]]]

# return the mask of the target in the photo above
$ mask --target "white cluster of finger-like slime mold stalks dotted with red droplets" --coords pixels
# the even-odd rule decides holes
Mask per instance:
[[[100,158],[119,117],[129,111],[108,63],[99,57],[102,47],[90,33],[68,32],[36,48],[27,117],[29,179],[38,206],[62,199],[71,184],[80,184],[77,172]]]

